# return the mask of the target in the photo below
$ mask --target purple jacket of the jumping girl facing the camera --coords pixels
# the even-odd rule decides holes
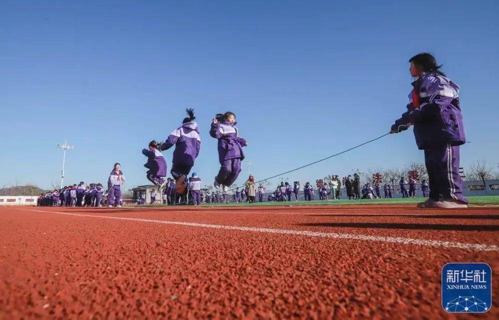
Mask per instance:
[[[220,163],[230,159],[245,158],[243,146],[246,139],[239,137],[239,130],[236,127],[237,122],[229,121],[212,123],[210,135],[219,140],[218,152]]]

